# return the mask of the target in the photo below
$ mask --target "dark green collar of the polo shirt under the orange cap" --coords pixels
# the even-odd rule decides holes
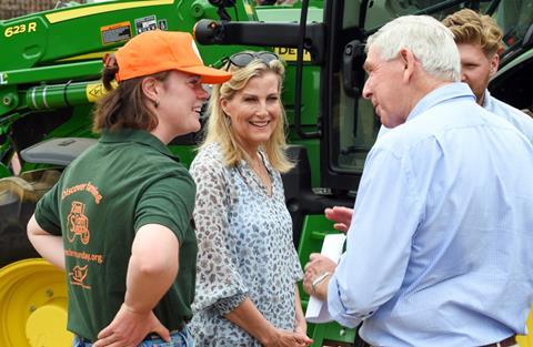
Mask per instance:
[[[121,130],[102,130],[102,136],[100,137],[102,143],[120,143],[120,142],[135,142],[148,145],[155,151],[172,157],[175,161],[180,161],[178,156],[170,152],[169,147],[162,143],[158,137],[144,130],[135,129],[121,129]]]

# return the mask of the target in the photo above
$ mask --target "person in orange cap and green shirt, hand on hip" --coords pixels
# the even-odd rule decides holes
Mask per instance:
[[[97,105],[100,141],[28,224],[37,251],[67,272],[73,346],[192,346],[195,186],[167,144],[200,130],[202,83],[230,76],[204,67],[183,32],[141,33],[105,59],[103,84],[119,84]]]

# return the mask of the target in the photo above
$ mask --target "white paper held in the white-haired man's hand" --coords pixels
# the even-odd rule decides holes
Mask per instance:
[[[329,257],[335,263],[339,263],[346,235],[344,234],[325,235],[320,254]],[[332,319],[328,313],[328,304],[319,300],[314,296],[311,296],[309,298],[308,309],[305,310],[305,320],[310,323],[331,322]]]

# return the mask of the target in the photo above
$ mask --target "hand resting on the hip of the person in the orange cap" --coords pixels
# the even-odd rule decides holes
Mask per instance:
[[[137,347],[148,334],[155,333],[170,341],[170,333],[153,312],[135,313],[122,304],[113,322],[98,334],[93,347]]]

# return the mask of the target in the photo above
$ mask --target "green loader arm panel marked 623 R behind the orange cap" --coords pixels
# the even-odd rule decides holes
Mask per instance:
[[[235,11],[229,11],[234,20],[254,19],[253,12],[247,12],[247,3],[241,1]],[[56,9],[7,20],[0,22],[3,33],[0,35],[0,71],[73,59],[73,55],[79,60],[94,59],[94,55],[84,54],[115,50],[135,35],[137,28],[142,23],[148,25],[154,21],[167,30],[192,32],[194,23],[202,18],[218,19],[215,9],[207,0],[122,0]],[[24,31],[13,33],[13,28],[24,28]],[[105,39],[113,32],[115,39]],[[204,55],[209,57],[207,62],[212,63],[218,57],[235,49],[239,48],[210,47]]]

